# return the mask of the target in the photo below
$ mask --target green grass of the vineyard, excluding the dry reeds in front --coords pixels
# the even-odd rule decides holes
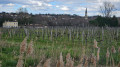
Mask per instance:
[[[111,51],[112,46],[114,46],[117,51],[120,46],[120,35],[116,36],[116,34],[120,34],[120,32],[117,32],[115,28],[110,29],[111,30],[104,29],[104,35],[102,34],[101,28],[97,30],[96,28],[73,28],[71,34],[69,34],[69,29],[58,28],[57,35],[56,28],[28,29],[30,34],[27,39],[27,44],[33,40],[34,52],[29,57],[26,57],[26,54],[24,54],[24,66],[35,67],[42,58],[44,58],[42,63],[48,58],[51,58],[51,62],[53,62],[51,65],[55,66],[61,52],[63,54],[63,61],[66,61],[65,56],[67,53],[70,53],[71,57],[74,58],[74,65],[77,66],[83,50],[85,50],[85,56],[87,57],[90,57],[92,53],[94,53],[95,56],[97,55],[97,49],[92,47],[94,39],[98,41],[98,47],[100,48],[100,60],[97,62],[97,65],[105,66],[107,48],[109,47],[109,51]],[[119,28],[117,29],[119,30]],[[79,31],[77,32],[77,30]],[[0,61],[2,61],[2,67],[16,67],[20,55],[20,43],[26,37],[24,29],[2,29],[1,32]],[[85,49],[83,49],[83,47],[85,47]],[[112,56],[115,65],[117,65],[120,62],[120,53],[117,52]],[[112,61],[109,61],[108,66],[110,65],[112,65]]]

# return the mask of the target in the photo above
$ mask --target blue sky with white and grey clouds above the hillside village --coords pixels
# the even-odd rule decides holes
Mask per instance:
[[[114,15],[120,17],[120,0],[0,0],[0,12],[17,12],[19,8],[27,8],[33,14],[77,14],[88,16],[100,15],[99,7],[109,1],[116,7]]]

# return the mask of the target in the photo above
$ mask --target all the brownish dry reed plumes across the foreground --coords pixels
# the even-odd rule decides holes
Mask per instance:
[[[97,46],[96,40],[94,40],[93,47],[94,47],[94,49],[95,48],[98,49],[97,55],[95,56],[94,54],[91,54],[91,57],[89,58],[89,57],[85,56],[85,47],[83,46],[80,64],[78,64],[76,67],[83,67],[83,66],[88,67],[89,63],[91,63],[91,62],[93,64],[93,67],[97,67],[97,62],[100,60],[100,48]],[[18,59],[18,63],[16,65],[16,67],[23,67],[23,65],[24,65],[23,53],[26,52],[28,55],[31,55],[33,53],[34,49],[33,49],[33,41],[32,40],[30,41],[27,50],[26,50],[26,48],[27,48],[27,38],[25,38],[20,45],[20,57]],[[119,50],[120,50],[120,48],[118,48],[118,52],[119,52]],[[116,49],[114,46],[112,46],[112,48],[111,48],[111,53],[116,53]],[[107,52],[106,52],[106,66],[108,65],[109,58],[110,58],[110,52],[109,52],[109,47],[108,47]],[[112,58],[112,63],[113,63],[113,66],[115,66],[113,58]],[[51,66],[51,59],[47,59],[43,65],[41,64],[41,62],[37,65],[37,67],[50,67],[50,66]],[[56,63],[56,67],[75,67],[74,60],[72,59],[70,53],[68,53],[66,55],[66,64],[64,64],[63,55],[61,52],[59,60]]]

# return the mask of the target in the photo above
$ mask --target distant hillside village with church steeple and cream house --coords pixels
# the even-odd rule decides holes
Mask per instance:
[[[6,20],[1,25],[4,28],[11,27],[44,27],[44,26],[87,26],[89,21],[95,19],[97,16],[88,16],[87,8],[85,16],[77,15],[55,15],[55,14],[28,14],[28,13],[0,13],[0,18],[5,17]],[[31,21],[22,21],[24,19],[31,19]],[[12,20],[11,20],[12,19]],[[18,22],[18,20],[20,21]],[[45,19],[45,20],[44,20]],[[11,21],[10,21],[11,20]],[[2,22],[1,22],[2,23]]]

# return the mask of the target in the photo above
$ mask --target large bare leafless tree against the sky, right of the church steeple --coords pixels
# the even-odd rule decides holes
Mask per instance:
[[[111,2],[103,2],[103,5],[100,6],[100,12],[105,17],[111,17],[115,6]]]

